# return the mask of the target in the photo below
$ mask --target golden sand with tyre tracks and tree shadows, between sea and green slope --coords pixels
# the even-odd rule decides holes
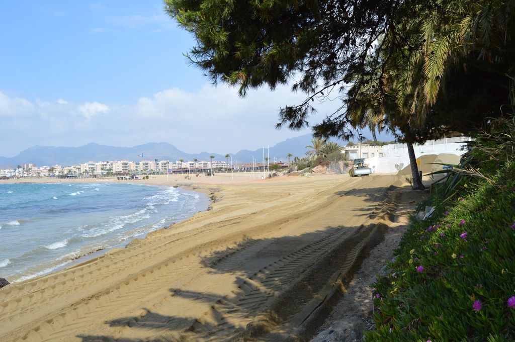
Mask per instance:
[[[283,339],[334,267],[359,262],[395,180],[334,175],[198,185],[221,199],[213,210],[0,289],[0,339]]]

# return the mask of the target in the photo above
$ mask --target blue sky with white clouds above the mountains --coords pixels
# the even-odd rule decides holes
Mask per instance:
[[[160,141],[225,153],[309,132],[274,129],[279,107],[301,94],[281,87],[242,99],[213,87],[183,56],[193,44],[161,0],[5,2],[0,156],[33,145]],[[333,105],[322,104],[314,122]]]

